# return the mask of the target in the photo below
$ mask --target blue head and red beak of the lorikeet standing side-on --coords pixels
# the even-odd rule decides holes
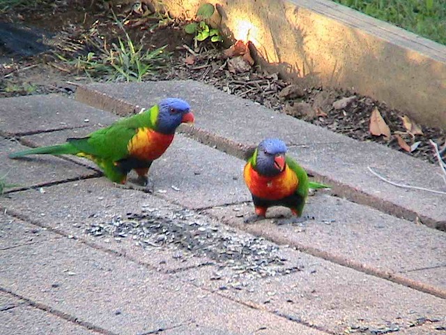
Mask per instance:
[[[156,130],[163,134],[173,134],[181,123],[193,122],[194,114],[190,112],[190,105],[184,100],[167,98],[159,104]]]

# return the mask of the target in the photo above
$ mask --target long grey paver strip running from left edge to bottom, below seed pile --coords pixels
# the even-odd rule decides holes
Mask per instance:
[[[226,334],[267,327],[268,334],[322,335],[72,239],[0,251],[0,259],[3,288],[118,334],[197,322]]]

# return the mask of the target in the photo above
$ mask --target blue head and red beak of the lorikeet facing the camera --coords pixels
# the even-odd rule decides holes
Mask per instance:
[[[254,169],[263,176],[272,177],[285,169],[286,144],[277,138],[260,142],[256,150]]]

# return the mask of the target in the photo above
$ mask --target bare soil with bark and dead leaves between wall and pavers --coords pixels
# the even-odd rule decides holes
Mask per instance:
[[[90,82],[92,78],[61,61],[57,55],[76,59],[88,52],[98,52],[99,47],[116,43],[118,36],[123,36],[110,8],[104,3],[91,0],[49,1],[45,6],[18,9],[2,15],[4,22],[48,31],[52,50],[33,57],[16,57],[11,50],[0,47],[0,98],[54,92],[72,94],[76,83]],[[144,5],[142,8],[113,9],[135,43],[150,49],[167,45],[171,52],[169,64],[146,80],[200,80],[334,132],[357,140],[379,142],[431,163],[436,163],[436,158],[429,145],[430,139],[446,149],[445,130],[420,125],[423,135],[412,135],[403,125],[402,114],[385,103],[340,89],[305,87],[299,83],[291,86],[276,73],[266,73],[259,66],[249,67],[243,72],[234,71],[228,66],[222,45],[204,41],[198,49],[192,50],[192,36],[185,34],[183,29],[185,22],[157,13],[148,15],[150,8]],[[94,80],[102,81],[104,78]],[[334,102],[349,96],[355,97],[348,105],[334,108]],[[390,140],[369,132],[371,112],[375,107],[392,131]],[[407,152],[401,149],[395,135],[401,136],[413,148],[417,142],[420,143],[412,152]]]

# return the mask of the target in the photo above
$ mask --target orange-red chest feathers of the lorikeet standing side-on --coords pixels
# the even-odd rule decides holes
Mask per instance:
[[[137,133],[127,144],[130,156],[141,161],[153,161],[160,158],[169,147],[174,134],[157,133],[151,128],[138,128]]]

